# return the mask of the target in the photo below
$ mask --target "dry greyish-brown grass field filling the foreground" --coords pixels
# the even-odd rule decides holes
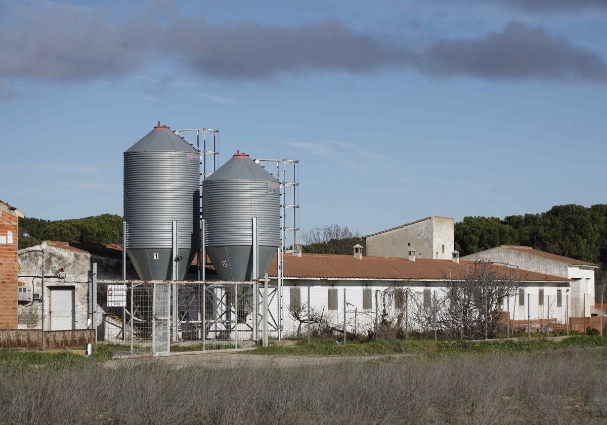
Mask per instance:
[[[231,370],[0,366],[7,424],[603,424],[607,350]]]

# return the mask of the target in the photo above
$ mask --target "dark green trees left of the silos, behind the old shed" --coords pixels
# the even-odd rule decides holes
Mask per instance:
[[[116,214],[54,221],[25,217],[19,219],[19,233],[29,233],[40,242],[122,243],[122,222]],[[20,250],[33,245],[33,239],[19,237]]]

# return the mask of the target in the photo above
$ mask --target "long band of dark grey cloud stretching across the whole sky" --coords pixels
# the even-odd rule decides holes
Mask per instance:
[[[597,53],[543,27],[510,22],[478,38],[444,38],[426,50],[348,27],[339,19],[299,25],[209,24],[174,13],[166,24],[141,15],[115,21],[92,9],[22,14],[0,28],[0,77],[76,82],[143,73],[146,63],[225,80],[271,80],[307,72],[415,69],[486,79],[607,81]],[[151,86],[151,78],[141,78]],[[164,83],[162,84],[164,85]]]

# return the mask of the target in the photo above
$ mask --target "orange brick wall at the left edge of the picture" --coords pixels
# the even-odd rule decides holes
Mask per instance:
[[[16,329],[19,217],[2,207],[4,205],[0,206],[0,329]],[[9,232],[12,232],[12,241]]]

